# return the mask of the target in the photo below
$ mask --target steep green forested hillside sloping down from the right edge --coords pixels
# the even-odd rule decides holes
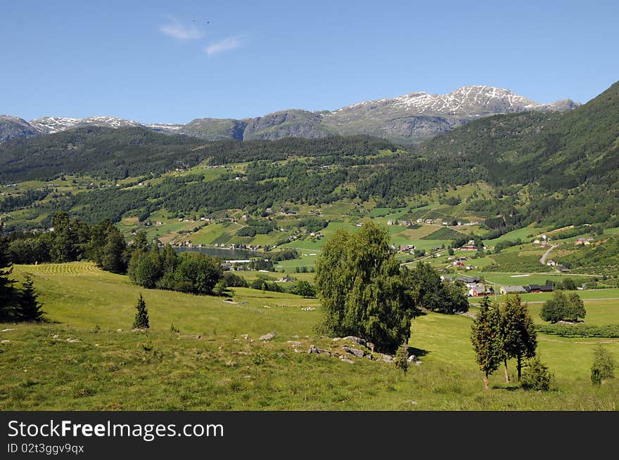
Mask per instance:
[[[496,199],[471,209],[518,223],[618,224],[619,83],[571,112],[497,115],[436,136],[390,164],[359,190],[388,199],[419,184],[486,180]]]

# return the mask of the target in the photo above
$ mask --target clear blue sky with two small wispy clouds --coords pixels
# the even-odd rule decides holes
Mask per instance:
[[[488,84],[587,102],[617,1],[7,1],[0,114],[146,123],[333,110]]]

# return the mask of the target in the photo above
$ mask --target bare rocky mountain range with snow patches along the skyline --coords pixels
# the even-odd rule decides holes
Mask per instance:
[[[153,131],[185,134],[205,140],[274,140],[364,134],[411,144],[451,131],[480,117],[513,112],[563,112],[578,106],[580,103],[570,99],[539,104],[504,88],[475,85],[463,86],[442,95],[423,91],[409,93],[333,111],[293,109],[245,119],[200,118],[187,124],[143,124],[115,117],[44,117],[25,121],[19,117],[0,115],[0,143],[85,126],[143,126]]]

